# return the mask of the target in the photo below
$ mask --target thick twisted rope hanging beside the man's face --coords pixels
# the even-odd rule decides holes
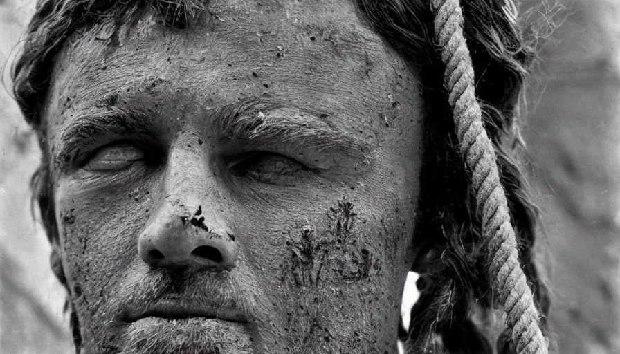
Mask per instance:
[[[460,142],[460,151],[471,174],[482,235],[488,240],[490,274],[496,301],[507,314],[512,341],[519,354],[547,354],[549,349],[538,322],[538,310],[527,285],[510,222],[508,203],[500,183],[493,144],[482,125],[482,111],[475,97],[471,56],[463,36],[459,0],[431,0],[435,13],[435,39],[446,66],[444,84]]]

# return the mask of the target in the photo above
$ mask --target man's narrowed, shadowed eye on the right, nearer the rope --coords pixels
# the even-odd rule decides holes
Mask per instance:
[[[310,171],[293,158],[265,151],[251,153],[234,168],[237,175],[273,185],[295,185],[304,173]]]

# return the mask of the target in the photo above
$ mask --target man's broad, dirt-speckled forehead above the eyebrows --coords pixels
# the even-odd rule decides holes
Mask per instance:
[[[136,95],[201,109],[266,96],[366,124],[377,97],[389,105],[417,87],[412,73],[352,1],[212,1],[185,30],[167,28],[149,8],[132,24],[98,24],[66,41],[48,127],[104,97]]]

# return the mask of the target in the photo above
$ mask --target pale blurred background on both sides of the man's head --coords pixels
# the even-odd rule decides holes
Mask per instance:
[[[524,0],[522,8],[539,3]],[[618,354],[620,0],[558,3],[564,9],[553,19],[561,25],[542,46],[524,128],[525,169],[541,210],[538,257],[552,290],[549,322],[558,353]],[[31,0],[0,0],[0,63],[33,10]],[[0,353],[73,351],[64,290],[30,209],[38,161],[34,136],[0,89]]]

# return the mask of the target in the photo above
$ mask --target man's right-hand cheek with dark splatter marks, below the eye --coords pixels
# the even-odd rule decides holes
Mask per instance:
[[[247,219],[235,223],[246,262],[264,274],[267,289],[400,287],[396,279],[412,261],[418,190],[415,174],[398,174],[410,178],[381,169],[374,182],[300,191],[277,203],[248,201],[254,208],[240,209]]]

